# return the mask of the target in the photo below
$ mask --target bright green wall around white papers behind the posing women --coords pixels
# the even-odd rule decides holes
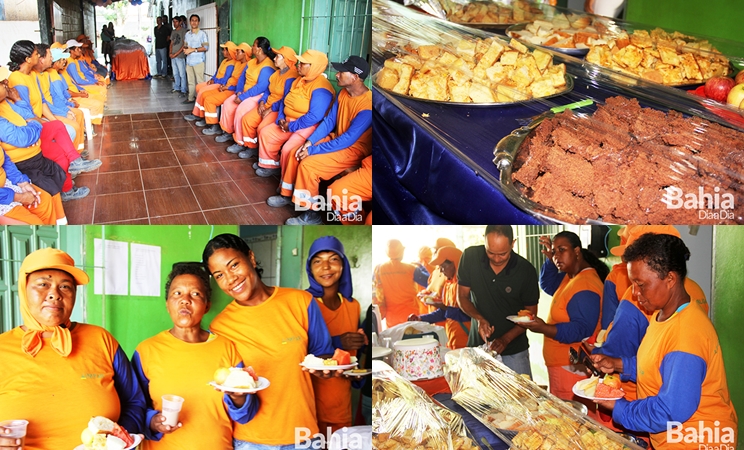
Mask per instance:
[[[165,293],[159,297],[96,295],[93,290],[94,252],[93,240],[105,239],[129,243],[158,245],[161,247],[161,282],[173,263],[199,261],[204,245],[210,237],[221,233],[237,233],[237,226],[86,226],[85,266],[91,276],[86,288],[86,322],[100,325],[110,331],[131,357],[142,340],[172,327],[165,310]],[[212,310],[204,316],[205,327],[230,299],[212,283]]]

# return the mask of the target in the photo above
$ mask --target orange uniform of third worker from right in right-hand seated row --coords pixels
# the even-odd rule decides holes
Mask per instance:
[[[277,70],[271,75],[269,78],[269,88],[258,101],[259,104],[264,103],[270,112],[266,114],[266,117],[261,117],[258,113],[258,108],[248,111],[241,121],[243,142],[235,142],[249,148],[258,148],[258,134],[263,128],[276,122],[276,118],[279,116],[281,100],[289,93],[292,83],[294,83],[297,77],[297,70],[294,67],[288,67],[284,73],[281,70]]]

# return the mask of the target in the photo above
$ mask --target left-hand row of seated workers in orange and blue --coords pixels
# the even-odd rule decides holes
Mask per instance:
[[[85,36],[51,46],[21,40],[0,67],[0,224],[66,224],[63,202],[90,193],[73,178],[88,159],[108,73]]]

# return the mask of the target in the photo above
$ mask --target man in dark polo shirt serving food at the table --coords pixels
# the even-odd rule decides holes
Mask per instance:
[[[511,226],[488,225],[485,241],[485,245],[465,249],[457,271],[457,300],[460,309],[472,318],[468,347],[488,340],[504,364],[531,376],[527,335],[506,316],[516,315],[521,309],[537,315],[537,271],[512,250]]]

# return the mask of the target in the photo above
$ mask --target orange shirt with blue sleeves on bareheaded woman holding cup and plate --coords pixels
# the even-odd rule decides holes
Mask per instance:
[[[247,395],[243,407],[235,408],[229,396],[208,384],[218,368],[242,367],[235,344],[222,336],[210,334],[206,342],[189,343],[162,331],[137,346],[132,365],[147,400],[145,450],[232,449],[231,418],[245,423],[258,411],[255,395]],[[154,433],[149,424],[168,394],[184,399],[178,416],[183,428],[167,435]]]

